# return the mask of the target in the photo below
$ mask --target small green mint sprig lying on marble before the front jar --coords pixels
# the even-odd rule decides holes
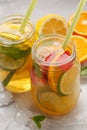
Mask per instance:
[[[41,128],[41,122],[45,120],[44,115],[36,115],[32,117],[32,120],[35,122],[37,127],[40,129]]]

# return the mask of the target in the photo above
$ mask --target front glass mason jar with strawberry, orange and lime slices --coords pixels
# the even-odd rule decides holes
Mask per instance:
[[[31,90],[38,108],[48,115],[63,115],[80,94],[80,63],[73,41],[62,48],[64,37],[48,35],[32,47]]]

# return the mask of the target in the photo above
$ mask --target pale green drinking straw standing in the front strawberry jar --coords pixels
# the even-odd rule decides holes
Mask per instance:
[[[64,40],[64,43],[63,43],[63,46],[62,46],[63,49],[66,48],[67,44],[68,44],[69,41],[70,41],[70,38],[71,38],[71,36],[72,36],[74,27],[75,27],[76,24],[77,24],[77,21],[78,21],[78,19],[79,19],[79,17],[80,17],[81,11],[83,10],[83,7],[84,7],[85,4],[86,4],[86,0],[80,0],[80,3],[79,3],[79,5],[78,5],[78,7],[77,7],[77,10],[76,10],[75,16],[74,16],[74,18],[73,18],[72,24],[71,24],[71,26],[70,26],[70,28],[69,28],[68,33],[66,34],[66,37],[65,37],[65,40]]]

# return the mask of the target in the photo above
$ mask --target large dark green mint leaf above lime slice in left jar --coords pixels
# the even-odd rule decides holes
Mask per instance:
[[[20,59],[27,55],[29,55],[31,52],[31,48],[28,48],[27,50],[20,50],[16,47],[0,47],[0,53],[4,53],[5,55],[8,55],[9,57],[13,59]]]

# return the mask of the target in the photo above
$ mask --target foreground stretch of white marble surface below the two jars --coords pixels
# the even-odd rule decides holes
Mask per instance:
[[[41,130],[86,130],[87,129],[87,79],[81,79],[81,93],[75,109],[62,117],[46,119]],[[32,117],[42,114],[35,107],[31,92],[12,94],[0,91],[0,130],[38,130]]]

